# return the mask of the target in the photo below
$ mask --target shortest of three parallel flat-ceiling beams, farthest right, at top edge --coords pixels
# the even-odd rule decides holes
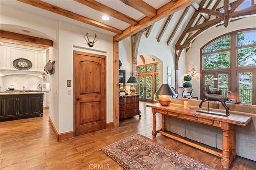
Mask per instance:
[[[142,0],[120,0],[124,4],[140,11],[145,16],[152,18],[156,16],[156,9]]]

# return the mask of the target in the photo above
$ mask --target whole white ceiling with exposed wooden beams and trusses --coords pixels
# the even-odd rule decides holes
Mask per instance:
[[[239,9],[245,3],[250,6]],[[146,37],[172,44],[177,57],[188,50],[202,32],[227,27],[229,22],[255,16],[253,0],[1,0],[1,4],[53,20],[65,21],[113,36],[120,41],[142,31]],[[101,17],[106,14],[110,20]],[[96,28],[95,28],[96,27]],[[1,27],[2,31],[25,34]],[[1,33],[1,38],[4,35]],[[9,33],[10,34],[10,33]],[[31,35],[31,33],[27,33]],[[40,37],[40,35],[31,35]]]

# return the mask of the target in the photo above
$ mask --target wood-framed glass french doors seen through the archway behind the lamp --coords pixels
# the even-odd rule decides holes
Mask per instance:
[[[153,102],[152,100],[152,74],[139,76],[140,101]]]

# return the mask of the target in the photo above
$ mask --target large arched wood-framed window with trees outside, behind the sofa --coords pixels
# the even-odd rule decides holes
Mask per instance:
[[[201,48],[201,62],[202,86],[219,88],[233,102],[256,104],[256,28],[208,42]]]

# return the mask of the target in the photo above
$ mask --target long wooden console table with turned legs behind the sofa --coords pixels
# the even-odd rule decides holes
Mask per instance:
[[[252,119],[251,116],[247,115],[238,115],[231,113],[228,117],[224,117],[220,115],[200,113],[196,111],[198,109],[183,109],[183,106],[161,106],[159,103],[146,104],[146,106],[152,108],[153,137],[156,137],[157,133],[161,133],[162,135],[165,135],[192,147],[196,147],[197,149],[201,149],[208,153],[219,156],[221,157],[221,164],[222,168],[224,169],[229,169],[231,162],[236,157],[235,125],[246,126]],[[162,114],[162,128],[158,131],[156,131],[156,113]],[[171,135],[170,133],[166,133],[166,129],[164,127],[165,115],[220,127],[222,129],[222,153],[203,147],[196,143],[192,143],[180,137]]]

